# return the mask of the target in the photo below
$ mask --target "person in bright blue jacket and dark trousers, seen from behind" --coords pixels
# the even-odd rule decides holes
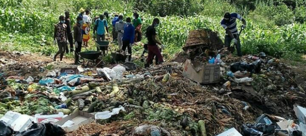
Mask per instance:
[[[132,45],[134,43],[134,36],[135,36],[135,27],[131,24],[131,18],[127,18],[127,24],[124,27],[124,34],[122,37],[123,41],[122,51],[124,52],[128,47],[129,54],[127,55],[129,56],[129,61],[131,61],[132,58]]]

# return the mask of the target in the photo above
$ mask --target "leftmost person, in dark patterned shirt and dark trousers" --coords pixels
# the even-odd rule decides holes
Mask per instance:
[[[62,61],[64,52],[67,46],[67,25],[65,24],[65,17],[59,17],[59,23],[54,25],[54,41],[53,44],[57,43],[58,51],[53,56],[53,61],[56,61],[56,57],[60,54],[60,61]]]

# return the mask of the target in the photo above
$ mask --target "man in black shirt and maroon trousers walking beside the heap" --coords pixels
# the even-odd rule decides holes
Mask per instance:
[[[148,39],[148,56],[147,56],[147,59],[146,59],[145,67],[150,66],[150,62],[151,62],[151,59],[153,59],[154,54],[156,54],[156,57],[158,58],[159,63],[164,62],[161,51],[160,51],[160,49],[157,45],[157,44],[159,44],[162,47],[164,47],[164,45],[158,40],[157,34],[156,34],[155,27],[157,27],[159,24],[160,24],[160,20],[158,18],[155,18],[153,20],[152,25],[150,25],[146,29],[146,37]]]

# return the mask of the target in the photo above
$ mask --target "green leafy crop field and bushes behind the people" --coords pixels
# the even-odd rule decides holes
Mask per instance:
[[[224,38],[220,20],[225,12],[237,12],[247,21],[247,29],[241,35],[244,53],[263,51],[269,55],[289,58],[306,53],[306,37],[303,34],[305,25],[294,24],[294,21],[304,23],[306,10],[301,0],[293,3],[297,6],[295,9],[288,7],[287,0],[0,0],[0,49],[51,55],[57,51],[57,46],[51,44],[54,24],[65,11],[70,11],[72,24],[80,8],[90,9],[91,17],[108,11],[110,24],[114,12],[126,18],[131,17],[132,11],[137,8],[142,11],[138,13],[144,19],[143,42],[146,41],[148,25],[151,25],[154,18],[160,19],[157,32],[166,45],[163,50],[165,58],[181,51],[190,30],[209,28],[218,31],[221,38]],[[112,31],[111,27],[109,30]],[[133,50],[141,53],[141,47],[134,46]],[[111,57],[107,55],[103,60],[111,61]],[[143,64],[140,61],[137,63]]]

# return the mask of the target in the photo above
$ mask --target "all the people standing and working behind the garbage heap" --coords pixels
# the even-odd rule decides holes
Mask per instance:
[[[108,34],[107,27],[107,18],[108,14],[100,15],[99,18],[95,18],[93,34],[96,35],[97,41],[105,40],[105,33]],[[132,57],[132,46],[135,42],[139,42],[142,39],[142,19],[139,17],[139,14],[134,13],[133,19],[127,17],[124,21],[123,15],[116,14],[112,23],[112,37],[113,41],[118,40],[118,45],[121,52],[125,53],[128,56],[128,60],[131,61]],[[236,19],[239,19],[243,22],[243,28],[246,27],[246,21],[237,13],[225,13],[223,19],[221,20],[221,26],[225,29],[225,40],[224,44],[228,47],[228,50],[234,51],[235,47],[230,46],[231,42],[234,42],[237,48],[238,55],[241,56],[241,45],[239,39],[239,33],[237,29]],[[70,52],[73,51],[73,43],[75,45],[74,57],[75,64],[79,64],[79,55],[81,51],[82,43],[84,46],[88,46],[88,40],[90,39],[90,26],[91,18],[89,10],[80,10],[80,15],[77,18],[77,22],[73,25],[73,36],[71,31],[71,21],[69,12],[65,12],[65,17],[59,17],[59,23],[55,25],[54,29],[54,44],[58,45],[58,52],[54,55],[53,60],[56,60],[57,55],[60,54],[60,60],[63,58],[63,54],[66,51],[69,52],[68,46],[70,45]],[[155,18],[153,23],[146,29],[147,44],[144,44],[144,53],[148,53],[145,67],[148,67],[154,57],[156,57],[156,63],[164,62],[163,56],[161,54],[162,49],[165,47],[162,42],[159,40],[156,32],[156,27],[160,24],[160,20]],[[106,32],[105,32],[106,31]],[[73,41],[74,39],[74,41]],[[160,47],[158,46],[160,45]],[[126,51],[127,50],[127,51]]]

